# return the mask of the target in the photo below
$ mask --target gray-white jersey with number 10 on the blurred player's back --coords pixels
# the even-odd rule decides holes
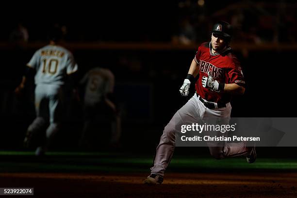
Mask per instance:
[[[78,69],[72,53],[56,45],[38,49],[27,66],[36,70],[35,84],[64,84],[67,74]]]

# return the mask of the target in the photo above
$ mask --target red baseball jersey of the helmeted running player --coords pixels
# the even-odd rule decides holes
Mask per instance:
[[[227,47],[220,53],[212,53],[211,43],[202,43],[195,56],[199,65],[199,79],[195,84],[200,97],[210,102],[227,103],[231,100],[231,94],[211,91],[202,86],[202,77],[208,76],[208,71],[214,80],[225,83],[236,83],[245,86],[244,76],[238,59],[232,53],[231,47]]]

